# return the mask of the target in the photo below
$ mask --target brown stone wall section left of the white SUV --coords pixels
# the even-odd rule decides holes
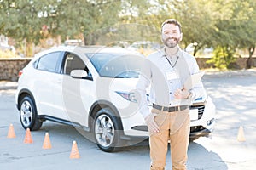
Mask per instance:
[[[0,81],[17,81],[19,71],[22,70],[31,59],[0,59]]]

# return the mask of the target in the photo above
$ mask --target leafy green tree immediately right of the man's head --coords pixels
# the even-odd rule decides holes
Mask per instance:
[[[211,45],[211,35],[214,29],[212,19],[212,1],[207,0],[172,0],[169,11],[174,11],[174,17],[183,25],[183,43],[187,47],[194,43],[194,53]]]

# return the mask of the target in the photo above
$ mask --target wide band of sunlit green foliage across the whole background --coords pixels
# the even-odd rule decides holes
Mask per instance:
[[[255,0],[0,0],[0,15],[0,34],[14,38],[26,55],[57,37],[84,38],[85,44],[161,42],[167,18],[182,23],[183,48],[196,42],[194,55],[215,48],[219,68],[230,67],[237,48],[252,58],[256,44]]]

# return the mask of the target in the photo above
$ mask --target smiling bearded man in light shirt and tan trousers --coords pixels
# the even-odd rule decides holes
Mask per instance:
[[[202,83],[191,89],[183,87],[190,75],[199,72],[195,57],[179,48],[182,27],[175,19],[163,22],[161,38],[165,47],[150,54],[137,82],[139,106],[148,125],[151,170],[166,166],[168,141],[171,145],[172,169],[186,169],[189,146],[189,105],[204,94]],[[148,110],[146,88],[150,86]]]

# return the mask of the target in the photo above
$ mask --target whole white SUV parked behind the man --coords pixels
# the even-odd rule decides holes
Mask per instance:
[[[22,126],[38,130],[49,120],[82,127],[108,152],[147,139],[132,93],[143,59],[125,48],[106,47],[63,46],[36,54],[20,73],[15,97]],[[195,99],[189,111],[191,139],[212,132],[211,98]]]

